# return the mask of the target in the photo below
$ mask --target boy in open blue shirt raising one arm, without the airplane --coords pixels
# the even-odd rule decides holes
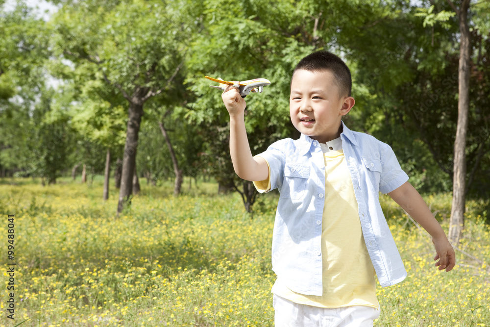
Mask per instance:
[[[272,237],[272,287],[276,326],[372,326],[380,314],[380,284],[407,273],[379,204],[388,193],[429,234],[439,270],[450,271],[455,253],[431,211],[407,181],[392,149],[342,122],[354,106],[351,75],[328,51],[296,66],[290,116],[301,132],[253,157],[245,100],[228,86],[230,154],[238,176],[259,192],[280,191]]]

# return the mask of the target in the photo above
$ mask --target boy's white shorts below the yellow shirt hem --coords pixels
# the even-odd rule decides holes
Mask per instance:
[[[372,327],[379,308],[352,305],[343,308],[320,308],[298,304],[274,294],[276,327]]]

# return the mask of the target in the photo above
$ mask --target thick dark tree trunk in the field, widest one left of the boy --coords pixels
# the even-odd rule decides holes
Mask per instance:
[[[129,119],[127,121],[126,144],[124,145],[123,171],[121,174],[121,188],[119,189],[118,215],[126,205],[131,203],[133,193],[133,174],[136,165],[136,150],[138,148],[138,132],[140,131],[141,117],[143,116],[142,98],[134,97],[129,102]]]

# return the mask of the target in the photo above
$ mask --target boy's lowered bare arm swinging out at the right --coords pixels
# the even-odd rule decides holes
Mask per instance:
[[[453,269],[456,264],[453,247],[447,240],[441,225],[412,184],[405,182],[388,195],[432,236],[437,253],[434,260],[439,259],[436,267],[439,266],[439,270],[445,269],[446,272]]]

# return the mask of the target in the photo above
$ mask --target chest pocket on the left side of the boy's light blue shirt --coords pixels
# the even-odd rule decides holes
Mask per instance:
[[[306,182],[310,176],[310,167],[298,164],[286,164],[284,167],[284,184],[281,196],[298,200],[304,196]]]

